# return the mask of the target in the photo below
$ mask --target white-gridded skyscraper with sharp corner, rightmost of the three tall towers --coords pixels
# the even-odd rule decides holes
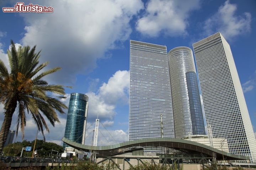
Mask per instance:
[[[193,44],[206,123],[229,152],[256,158],[256,141],[228,42],[216,33]]]

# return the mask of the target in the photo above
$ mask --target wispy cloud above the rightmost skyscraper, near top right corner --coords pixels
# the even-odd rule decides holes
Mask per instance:
[[[217,13],[208,18],[204,23],[204,32],[211,35],[221,32],[226,39],[245,34],[251,30],[251,14],[245,12],[243,16],[236,15],[236,4],[230,4],[227,0],[219,7]]]

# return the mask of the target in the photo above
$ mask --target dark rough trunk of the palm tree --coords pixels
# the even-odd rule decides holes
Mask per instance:
[[[4,113],[5,117],[4,117],[4,121],[2,123],[1,131],[0,131],[0,154],[2,153],[7,135],[11,128],[12,115],[14,114],[16,107],[17,107],[17,99],[16,97],[13,97]]]

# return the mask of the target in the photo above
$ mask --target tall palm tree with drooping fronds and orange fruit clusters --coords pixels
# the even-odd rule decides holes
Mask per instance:
[[[63,109],[67,109],[65,104],[60,101],[60,99],[66,98],[64,96],[65,86],[51,85],[42,79],[61,68],[55,67],[41,71],[48,65],[48,62],[39,65],[41,51],[37,53],[35,51],[36,46],[32,49],[30,46],[20,46],[16,49],[11,40],[11,48],[7,50],[10,72],[0,59],[0,104],[4,104],[4,121],[0,131],[0,153],[9,133],[12,115],[16,108],[18,112],[16,136],[20,126],[22,138],[24,138],[26,126],[26,113],[31,114],[37,129],[42,132],[44,137],[43,130],[49,132],[44,118],[46,117],[54,126],[55,122],[59,123],[57,112],[63,114]],[[39,73],[40,71],[41,73]]]

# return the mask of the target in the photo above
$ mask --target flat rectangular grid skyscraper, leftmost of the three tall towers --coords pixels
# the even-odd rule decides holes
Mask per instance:
[[[161,136],[174,138],[167,49],[130,40],[129,140]]]

